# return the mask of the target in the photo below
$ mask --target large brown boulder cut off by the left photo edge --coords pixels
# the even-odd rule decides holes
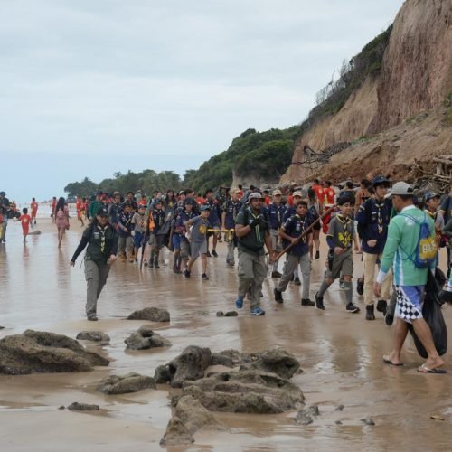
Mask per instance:
[[[86,352],[77,341],[62,334],[26,330],[0,340],[0,373],[83,372],[108,364],[106,358]]]

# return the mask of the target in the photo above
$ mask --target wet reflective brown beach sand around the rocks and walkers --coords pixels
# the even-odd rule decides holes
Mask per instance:
[[[42,215],[43,216],[43,215]],[[326,311],[300,306],[300,287],[289,285],[285,303],[273,301],[275,279],[264,283],[264,317],[250,317],[249,305],[239,317],[219,318],[219,310],[233,309],[237,277],[226,266],[225,244],[219,258],[209,259],[209,281],[201,268],[190,280],[171,271],[172,255],[165,253],[160,269],[139,268],[118,261],[113,266],[98,306],[99,322],[85,320],[86,284],[81,258],[75,268],[69,260],[82,228],[71,219],[71,230],[57,249],[56,228],[48,217],[38,218],[40,236],[22,243],[19,223],[10,222],[7,243],[0,245],[0,338],[25,329],[52,331],[73,338],[82,330],[100,330],[111,342],[90,350],[111,360],[94,372],[0,376],[0,445],[2,450],[158,450],[170,419],[174,390],[139,391],[106,396],[96,383],[110,374],[139,372],[154,376],[189,344],[209,346],[213,352],[235,348],[243,352],[281,347],[293,353],[303,373],[294,381],[304,391],[306,406],[318,404],[321,415],[313,424],[295,425],[296,412],[280,415],[215,413],[229,432],[198,432],[191,447],[168,450],[448,450],[452,441],[452,353],[445,357],[447,375],[416,372],[422,359],[412,340],[403,352],[404,367],[382,363],[391,349],[392,328],[364,320],[363,297],[354,292],[358,315],[344,310],[344,293],[334,283],[325,295]],[[325,236],[321,255],[325,258]],[[443,250],[442,259],[445,259]],[[442,260],[442,268],[445,268]],[[201,264],[199,263],[199,266]],[[313,262],[311,299],[320,285],[324,259]],[[362,270],[355,256],[355,275]],[[354,283],[353,283],[354,290]],[[126,321],[132,311],[146,306],[170,311],[171,323]],[[452,309],[443,309],[449,331]],[[124,339],[141,325],[152,325],[169,339],[169,348],[126,352]],[[449,334],[450,337],[450,334]],[[98,413],[59,410],[73,401],[97,403]],[[343,404],[344,410],[334,410]],[[432,414],[444,420],[430,419]],[[361,419],[371,418],[374,427]],[[340,420],[342,425],[336,425]]]

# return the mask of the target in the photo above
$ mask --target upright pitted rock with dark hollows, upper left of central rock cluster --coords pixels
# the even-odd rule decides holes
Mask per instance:
[[[159,367],[158,375],[155,374],[155,381],[162,381],[161,376],[169,377],[168,382],[173,388],[180,388],[186,380],[198,380],[204,376],[204,371],[210,366],[212,353],[209,348],[202,348],[196,345],[189,345],[184,351],[167,363],[165,369]]]

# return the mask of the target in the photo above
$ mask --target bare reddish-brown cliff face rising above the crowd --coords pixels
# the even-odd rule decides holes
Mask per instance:
[[[451,49],[452,1],[407,0],[394,21],[380,75],[368,77],[338,113],[298,139],[281,182],[300,183],[314,174],[358,178],[369,175],[370,166],[403,177],[415,158],[425,162],[450,154],[451,113],[441,104],[452,92]],[[410,120],[424,110],[427,117]],[[306,160],[305,146],[322,152],[360,137],[362,142],[325,165],[299,165]]]

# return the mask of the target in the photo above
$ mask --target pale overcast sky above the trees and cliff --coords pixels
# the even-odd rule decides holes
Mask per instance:
[[[0,190],[184,175],[247,128],[301,123],[402,0],[2,0]]]

